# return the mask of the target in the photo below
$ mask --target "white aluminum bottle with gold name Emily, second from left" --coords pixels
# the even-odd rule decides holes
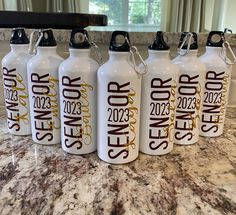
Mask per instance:
[[[60,143],[58,67],[62,58],[52,30],[43,34],[37,54],[27,64],[32,139],[45,145]]]

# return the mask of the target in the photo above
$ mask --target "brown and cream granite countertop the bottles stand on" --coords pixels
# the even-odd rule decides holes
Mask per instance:
[[[221,137],[127,165],[12,136],[0,108],[0,214],[236,214],[236,108]]]

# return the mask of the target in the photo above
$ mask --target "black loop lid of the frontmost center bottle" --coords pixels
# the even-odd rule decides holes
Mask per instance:
[[[119,45],[117,44],[116,37],[117,36],[123,36],[125,41],[123,44]],[[126,31],[113,31],[109,46],[110,51],[115,52],[129,52],[130,51],[130,40],[129,40],[129,34]]]

